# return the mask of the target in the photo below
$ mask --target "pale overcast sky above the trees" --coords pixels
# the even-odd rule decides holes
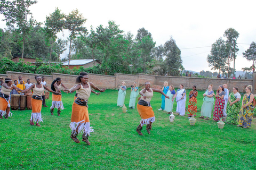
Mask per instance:
[[[30,10],[37,21],[44,22],[46,15],[52,13],[55,7],[59,7],[65,14],[77,8],[87,19],[84,25],[87,29],[90,30],[91,25],[96,28],[100,24],[106,27],[109,20],[114,20],[125,33],[131,31],[134,37],[138,29],[144,27],[151,32],[156,46],[164,45],[172,36],[181,49],[185,69],[199,72],[211,70],[206,62],[207,54],[210,54],[211,45],[219,37],[223,37],[228,28],[234,28],[240,34],[237,39],[239,52],[236,70],[252,65],[252,62],[243,58],[242,53],[252,41],[256,41],[255,6],[256,1],[234,0],[38,0]],[[5,22],[1,21],[0,26],[4,28]],[[59,38],[63,38],[59,35]]]

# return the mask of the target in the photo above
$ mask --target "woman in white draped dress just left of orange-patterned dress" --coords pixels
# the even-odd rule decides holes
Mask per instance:
[[[180,89],[178,89],[177,93],[174,95],[177,102],[176,113],[180,116],[184,116],[186,111],[186,89],[183,89],[183,87],[183,84],[180,84]]]

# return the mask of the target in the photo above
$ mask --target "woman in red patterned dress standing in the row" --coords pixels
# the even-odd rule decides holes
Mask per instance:
[[[213,121],[218,122],[220,118],[223,116],[223,109],[225,105],[225,91],[222,85],[219,86],[215,98],[215,106],[214,106],[214,111],[213,111]]]

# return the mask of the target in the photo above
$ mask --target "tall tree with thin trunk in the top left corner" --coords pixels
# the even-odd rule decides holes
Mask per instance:
[[[22,53],[24,55],[24,45],[26,36],[29,34],[31,28],[36,24],[33,15],[28,10],[29,6],[36,4],[37,1],[31,0],[14,0],[14,1],[1,1],[0,13],[4,15],[6,26],[15,29],[18,33],[22,33]],[[30,18],[28,19],[28,16]],[[38,24],[38,23],[37,23]]]

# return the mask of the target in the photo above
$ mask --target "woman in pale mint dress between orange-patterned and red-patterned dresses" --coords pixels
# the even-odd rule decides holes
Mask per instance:
[[[212,115],[212,109],[214,105],[214,91],[212,90],[212,84],[208,86],[208,90],[203,94],[204,103],[201,107],[201,116],[199,118],[204,118],[205,120],[209,120]]]

